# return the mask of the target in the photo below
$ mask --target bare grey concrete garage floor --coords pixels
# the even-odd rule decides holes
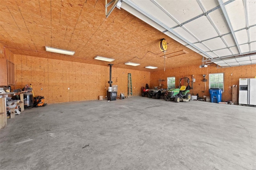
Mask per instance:
[[[1,170],[255,170],[256,108],[130,97],[26,109]]]

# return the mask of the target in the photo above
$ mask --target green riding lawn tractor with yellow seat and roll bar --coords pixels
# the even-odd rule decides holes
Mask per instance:
[[[191,95],[189,94],[189,90],[191,89],[189,85],[189,78],[183,77],[180,79],[180,85],[176,89],[169,89],[165,95],[165,101],[175,101],[176,103],[180,101],[190,101]]]

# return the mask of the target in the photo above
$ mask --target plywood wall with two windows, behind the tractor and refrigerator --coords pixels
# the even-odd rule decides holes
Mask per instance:
[[[216,66],[209,65],[208,67],[199,68],[199,65],[192,65],[189,67],[178,67],[174,69],[166,69],[166,71],[154,71],[150,74],[150,87],[158,86],[158,79],[164,79],[162,84],[167,88],[167,77],[176,78],[176,86],[179,85],[179,79],[188,77],[192,81],[192,75],[196,79],[194,88],[190,90],[192,95],[198,93],[199,97],[210,96],[209,94],[209,81],[206,82],[206,89],[203,79],[203,74],[209,80],[210,73],[224,73],[224,92],[222,93],[222,100],[232,101],[232,85],[239,86],[239,78],[254,78],[256,76],[256,65],[244,65],[238,67],[217,68]],[[232,75],[231,75],[232,74]],[[191,82],[190,82],[191,86]],[[239,93],[239,88],[238,88]]]

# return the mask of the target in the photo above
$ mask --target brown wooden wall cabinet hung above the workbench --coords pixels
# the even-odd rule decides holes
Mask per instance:
[[[12,61],[0,59],[0,85],[15,85],[14,70]]]

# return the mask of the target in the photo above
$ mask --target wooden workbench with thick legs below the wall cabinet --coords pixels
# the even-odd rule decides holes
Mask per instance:
[[[14,95],[20,95],[20,105],[21,111],[24,111],[24,94],[25,92],[12,92],[12,93],[0,93],[0,129],[4,128],[7,125],[7,115],[6,112],[10,111],[10,118],[15,117],[15,108],[6,109],[6,97],[12,97]]]

